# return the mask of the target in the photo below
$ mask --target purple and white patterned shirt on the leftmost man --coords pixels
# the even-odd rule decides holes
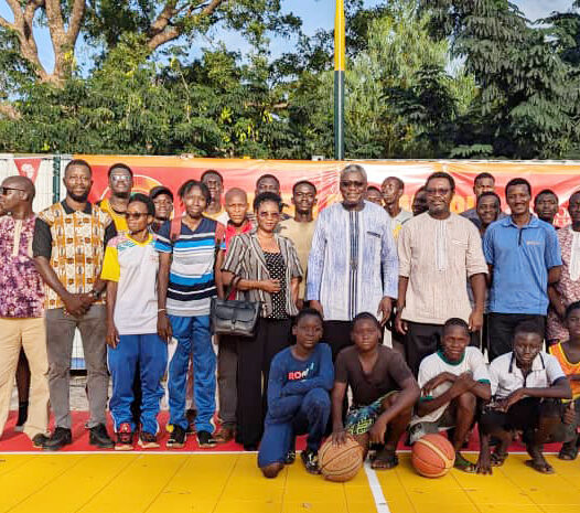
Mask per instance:
[[[32,259],[34,220],[0,217],[0,317],[43,316],[44,284]]]

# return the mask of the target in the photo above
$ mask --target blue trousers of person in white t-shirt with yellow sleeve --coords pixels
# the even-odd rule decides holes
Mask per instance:
[[[117,348],[107,348],[109,372],[112,377],[112,395],[109,400],[115,431],[121,424],[136,425],[131,413],[133,402],[133,381],[139,362],[142,398],[142,430],[155,435],[159,431],[157,416],[159,403],[163,397],[161,380],[168,365],[168,345],[157,333],[141,335],[119,335]]]

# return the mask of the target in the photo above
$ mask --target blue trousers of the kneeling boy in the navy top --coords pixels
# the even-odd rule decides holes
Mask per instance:
[[[323,388],[312,388],[304,395],[300,409],[292,420],[279,424],[266,420],[258,452],[258,467],[283,463],[297,435],[308,434],[307,447],[318,452],[330,413],[329,393]]]

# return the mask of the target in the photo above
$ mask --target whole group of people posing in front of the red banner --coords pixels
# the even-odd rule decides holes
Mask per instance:
[[[29,179],[2,182],[0,434],[17,376],[17,427],[44,450],[72,442],[78,329],[98,448],[159,447],[167,395],[168,448],[192,434],[201,448],[235,439],[259,449],[268,478],[294,461],[299,434],[312,473],[325,436],[339,445],[353,436],[376,469],[397,464],[402,436],[412,443],[439,431],[466,472],[501,466],[519,434],[537,471],[554,472],[548,441],[563,442],[560,458],[577,457],[580,192],[569,200],[572,224],[557,231],[554,192],[536,195],[535,215],[530,184],[515,178],[505,214],[490,173],[475,178],[476,206],[461,215],[450,211],[453,178],[432,173],[411,213],[399,178],[372,188],[350,164],[342,201],[316,218],[305,180],[289,216],[271,174],[258,179],[250,209],[246,191],[224,194],[224,178],[208,170],[179,189],[183,215],[173,215],[171,190],[132,193],[132,179],[114,164],[110,196],[92,204],[90,165],[72,160],[66,197],[39,214]],[[254,335],[214,335],[212,298],[258,301]],[[481,453],[470,462],[461,448],[475,425]]]

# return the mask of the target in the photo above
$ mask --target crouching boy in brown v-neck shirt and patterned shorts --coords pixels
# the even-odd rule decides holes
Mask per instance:
[[[419,386],[402,356],[380,344],[382,328],[367,312],[354,318],[351,338],[354,346],[341,351],[336,359],[336,377],[332,391],[334,443],[342,445],[347,434],[365,449],[379,446],[374,469],[398,464],[397,443],[411,419],[419,398]],[[343,425],[343,400],[351,386],[353,406]]]

